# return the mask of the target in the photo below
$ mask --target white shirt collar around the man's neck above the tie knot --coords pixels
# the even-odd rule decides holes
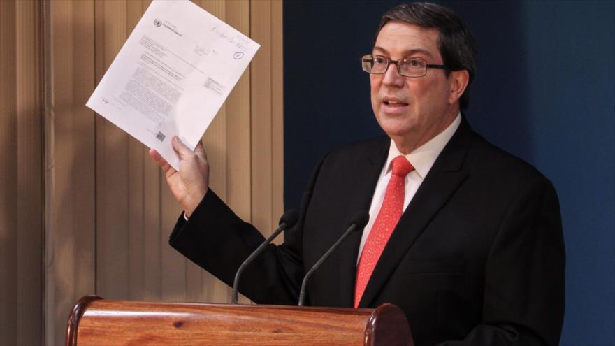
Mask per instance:
[[[449,143],[449,140],[453,137],[455,131],[457,131],[459,124],[461,124],[461,113],[457,113],[455,120],[451,122],[449,127],[440,132],[440,134],[437,134],[437,136],[431,138],[431,140],[428,140],[428,142],[424,145],[417,147],[417,149],[410,152],[410,154],[404,155],[406,159],[410,161],[410,164],[412,164],[414,170],[417,171],[421,180],[425,179],[427,173],[429,173],[429,170],[431,169],[431,166],[433,166],[435,159],[437,159],[438,155],[440,155],[440,152],[442,152],[444,146]],[[385,173],[389,173],[389,171],[391,171],[391,161],[399,155],[403,154],[398,150],[397,145],[395,145],[391,139],[391,145],[389,145],[389,157],[386,158]]]

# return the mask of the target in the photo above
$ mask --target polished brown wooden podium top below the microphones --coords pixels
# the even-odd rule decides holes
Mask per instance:
[[[404,345],[410,326],[395,305],[375,309],[108,301],[84,296],[66,346]]]

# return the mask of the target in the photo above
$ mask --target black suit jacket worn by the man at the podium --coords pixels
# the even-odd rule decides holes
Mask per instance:
[[[307,271],[368,210],[389,150],[377,138],[321,160],[298,224],[250,266],[240,291],[256,303],[296,304]],[[312,305],[352,307],[360,233],[314,273]],[[170,243],[227,284],[263,237],[211,190]],[[421,345],[557,345],[565,252],[547,178],[462,122],[403,213],[360,307],[398,305]]]

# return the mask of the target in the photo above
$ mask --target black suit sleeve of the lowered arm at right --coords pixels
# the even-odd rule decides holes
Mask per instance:
[[[558,198],[544,177],[519,192],[502,220],[485,268],[482,324],[461,345],[559,343],[565,250]]]

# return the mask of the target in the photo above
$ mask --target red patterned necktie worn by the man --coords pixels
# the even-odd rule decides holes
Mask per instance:
[[[404,180],[405,176],[414,170],[412,164],[402,155],[391,162],[393,166],[389,185],[386,185],[384,201],[378,212],[374,226],[370,231],[368,240],[363,247],[359,266],[356,268],[356,284],[354,286],[354,308],[359,306],[363,291],[372,276],[372,272],[384,250],[384,245],[389,241],[391,233],[403,212]]]

